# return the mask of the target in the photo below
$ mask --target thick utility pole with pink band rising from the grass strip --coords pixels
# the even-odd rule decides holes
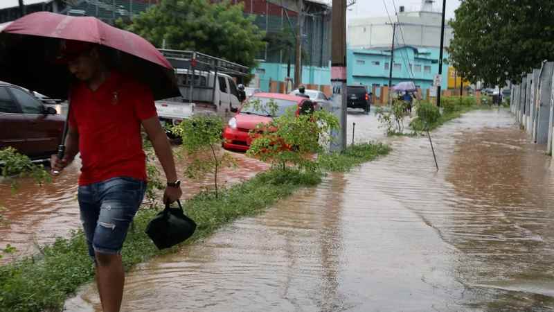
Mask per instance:
[[[339,133],[333,132],[331,150],[346,148],[346,0],[332,0],[331,85],[333,112],[339,117]]]

